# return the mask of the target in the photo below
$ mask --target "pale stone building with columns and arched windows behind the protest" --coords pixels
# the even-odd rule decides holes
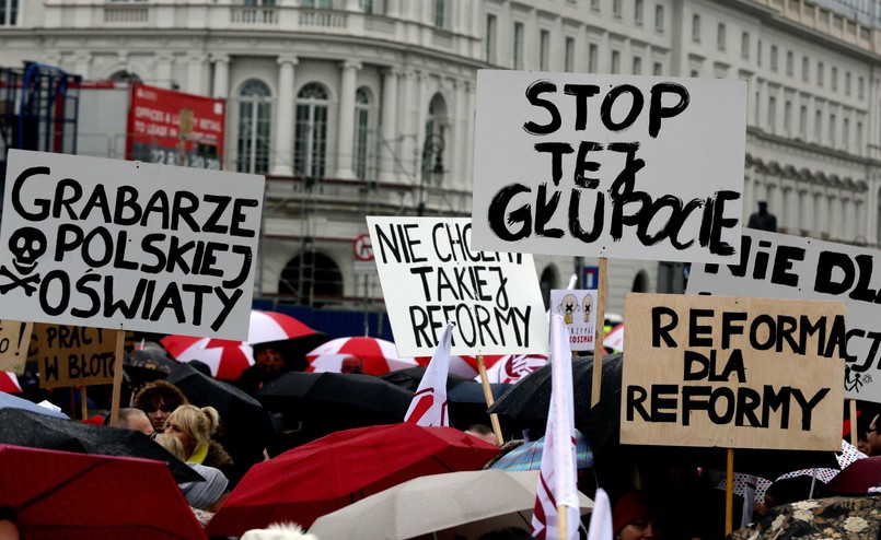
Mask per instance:
[[[366,215],[471,214],[482,68],[749,81],[743,222],[877,246],[877,0],[0,0],[3,66],[227,98],[223,167],[267,176],[256,296],[381,308]],[[114,138],[124,133],[106,133]],[[536,256],[543,290],[595,259]],[[682,265],[611,260],[624,293]]]

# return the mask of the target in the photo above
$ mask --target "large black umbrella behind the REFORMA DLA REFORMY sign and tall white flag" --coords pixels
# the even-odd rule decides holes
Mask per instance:
[[[604,457],[624,459],[628,456],[642,460],[651,456],[658,462],[688,462],[709,469],[726,470],[728,449],[721,447],[622,445],[621,432],[621,353],[603,357],[600,402],[591,408],[593,387],[593,356],[572,361],[575,386],[575,424],[584,434],[594,453],[598,467]],[[489,412],[517,419],[545,421],[550,403],[550,364],[529,374],[506,392]],[[786,446],[786,442],[781,442]],[[833,451],[738,448],[734,450],[734,470],[763,478],[799,469],[839,468]]]

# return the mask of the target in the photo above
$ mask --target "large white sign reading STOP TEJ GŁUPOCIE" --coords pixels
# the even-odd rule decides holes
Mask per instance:
[[[730,262],[746,82],[477,72],[478,249]]]

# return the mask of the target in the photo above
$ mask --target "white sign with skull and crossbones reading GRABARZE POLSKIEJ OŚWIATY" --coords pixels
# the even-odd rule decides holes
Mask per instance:
[[[10,150],[0,318],[247,339],[264,178]]]

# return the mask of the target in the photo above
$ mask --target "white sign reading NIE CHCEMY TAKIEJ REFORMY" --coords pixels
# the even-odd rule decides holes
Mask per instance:
[[[395,345],[431,356],[447,321],[452,354],[547,351],[547,317],[532,256],[477,251],[471,221],[368,218]]]

